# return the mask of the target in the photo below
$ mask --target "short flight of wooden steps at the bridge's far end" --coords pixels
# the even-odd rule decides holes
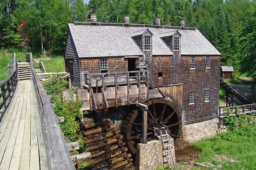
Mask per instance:
[[[31,65],[29,62],[18,62],[18,80],[32,79]]]

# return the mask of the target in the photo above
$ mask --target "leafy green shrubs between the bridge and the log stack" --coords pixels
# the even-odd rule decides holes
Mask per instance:
[[[74,99],[74,91],[70,91],[69,100],[63,98],[61,90],[65,89],[68,82],[62,79],[60,76],[53,76],[52,81],[45,82],[43,84],[44,89],[51,95],[51,101],[53,103],[53,110],[59,117],[64,117],[64,122],[60,123],[60,129],[64,132],[65,136],[71,141],[77,140],[77,133],[79,131],[79,124],[76,118],[82,117],[80,114],[80,108],[83,102]]]

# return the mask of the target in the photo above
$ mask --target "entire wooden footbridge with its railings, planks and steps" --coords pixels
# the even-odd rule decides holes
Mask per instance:
[[[0,169],[75,169],[32,55],[0,83]]]

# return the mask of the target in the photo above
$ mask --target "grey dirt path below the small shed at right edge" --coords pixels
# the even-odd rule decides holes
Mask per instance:
[[[231,84],[228,83],[233,89],[237,90],[242,96],[247,98],[250,102],[256,102],[256,87],[254,89],[251,88],[251,85],[245,84]]]

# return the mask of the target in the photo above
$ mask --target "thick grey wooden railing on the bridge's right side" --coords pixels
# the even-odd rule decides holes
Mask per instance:
[[[75,169],[62,131],[59,128],[57,117],[53,111],[50,98],[46,94],[42,83],[38,79],[33,66],[32,55],[30,55],[33,82],[36,89],[39,108],[41,111],[41,122],[43,125],[46,154],[49,169]]]

